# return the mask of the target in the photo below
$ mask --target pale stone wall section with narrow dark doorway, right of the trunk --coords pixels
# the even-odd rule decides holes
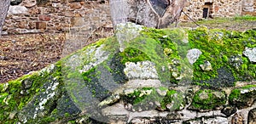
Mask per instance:
[[[256,1],[253,0],[188,0],[183,11],[194,20],[201,20],[204,18],[204,8],[208,8],[207,18],[256,15]],[[181,20],[189,18],[182,14]]]

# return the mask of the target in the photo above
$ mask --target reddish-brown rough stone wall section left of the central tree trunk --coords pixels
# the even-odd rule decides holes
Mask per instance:
[[[66,32],[74,26],[93,31],[109,24],[109,7],[105,1],[24,0],[10,6],[3,34]]]

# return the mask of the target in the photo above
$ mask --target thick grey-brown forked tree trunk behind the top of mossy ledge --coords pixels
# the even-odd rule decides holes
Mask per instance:
[[[126,21],[165,28],[180,17],[186,0],[110,0],[113,26]]]

